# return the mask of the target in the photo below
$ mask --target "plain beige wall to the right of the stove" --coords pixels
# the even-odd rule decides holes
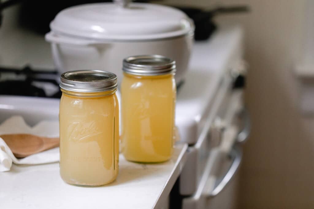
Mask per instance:
[[[244,149],[240,208],[314,208],[314,124],[296,107],[292,73],[302,49],[305,0],[168,2],[251,7],[248,15],[217,18],[244,25],[250,64],[246,102],[253,124]]]

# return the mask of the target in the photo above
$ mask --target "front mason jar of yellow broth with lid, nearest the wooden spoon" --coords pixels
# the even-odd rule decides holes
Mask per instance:
[[[100,186],[116,179],[119,107],[115,74],[98,70],[61,75],[60,175],[73,185]]]

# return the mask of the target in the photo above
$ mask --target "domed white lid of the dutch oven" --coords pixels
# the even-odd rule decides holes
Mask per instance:
[[[50,28],[56,34],[89,39],[151,40],[193,34],[194,24],[175,8],[116,0],[64,9]]]

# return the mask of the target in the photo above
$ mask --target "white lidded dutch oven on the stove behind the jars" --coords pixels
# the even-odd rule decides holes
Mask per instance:
[[[46,34],[57,69],[106,70],[121,81],[125,57],[158,54],[176,60],[180,82],[193,45],[192,21],[175,8],[122,3],[85,4],[57,14]]]

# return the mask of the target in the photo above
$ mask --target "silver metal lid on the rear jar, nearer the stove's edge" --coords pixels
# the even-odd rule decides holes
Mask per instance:
[[[165,75],[176,71],[176,61],[161,55],[137,55],[125,58],[122,70],[140,76]]]

